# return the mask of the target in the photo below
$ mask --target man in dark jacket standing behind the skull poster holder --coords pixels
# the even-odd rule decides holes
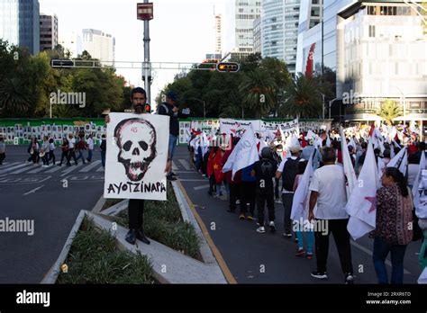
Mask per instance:
[[[188,114],[178,112],[177,107],[178,95],[174,91],[169,91],[166,94],[166,103],[161,103],[159,106],[159,115],[168,115],[169,120],[169,155],[168,158],[172,160],[174,157],[175,147],[177,146],[177,138],[179,135],[179,122],[178,118],[185,119]],[[177,178],[173,177],[177,174],[172,173],[172,170],[168,173],[167,178],[169,181],[175,181]]]

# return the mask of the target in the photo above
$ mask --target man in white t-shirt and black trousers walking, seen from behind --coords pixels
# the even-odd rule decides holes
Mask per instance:
[[[310,207],[308,219],[316,219],[315,228],[317,271],[312,276],[327,279],[326,262],[329,250],[329,235],[332,233],[345,275],[344,282],[353,283],[353,265],[351,264],[350,234],[347,230],[349,215],[345,210],[347,193],[346,178],[341,165],[335,165],[336,155],[333,148],[323,149],[323,167],[317,169],[310,183]],[[317,210],[313,212],[317,203]]]

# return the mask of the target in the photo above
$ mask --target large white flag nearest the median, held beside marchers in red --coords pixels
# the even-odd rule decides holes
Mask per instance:
[[[232,180],[237,171],[252,165],[259,160],[257,141],[252,128],[245,131],[241,140],[232,150],[225,165],[223,165],[223,173],[232,170]]]

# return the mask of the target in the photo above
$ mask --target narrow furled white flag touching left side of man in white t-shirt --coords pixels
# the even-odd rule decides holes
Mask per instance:
[[[313,152],[308,160],[307,167],[303,174],[301,182],[295,190],[294,201],[292,202],[291,219],[300,221],[301,219],[308,219],[309,195],[308,190],[310,180],[313,176]]]

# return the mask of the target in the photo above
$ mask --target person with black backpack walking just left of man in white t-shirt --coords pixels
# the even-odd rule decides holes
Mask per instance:
[[[282,177],[282,201],[285,208],[284,226],[285,232],[283,236],[292,237],[292,202],[294,201],[294,182],[298,174],[298,164],[304,161],[301,155],[301,146],[295,145],[290,148],[291,156],[284,158],[282,163],[278,166],[276,178]]]

